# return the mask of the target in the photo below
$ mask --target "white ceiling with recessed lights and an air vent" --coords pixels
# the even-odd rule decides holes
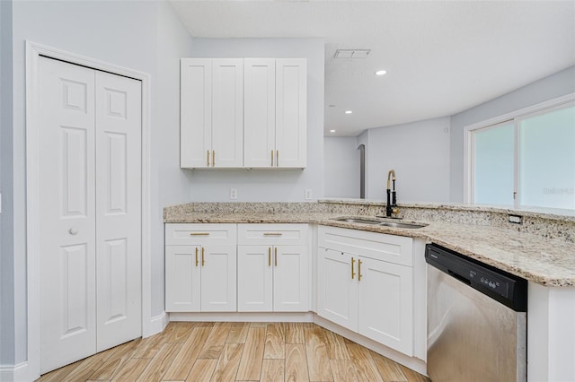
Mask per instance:
[[[575,65],[572,0],[170,3],[194,37],[324,38],[326,136],[450,116]],[[346,48],[371,53],[333,58]]]

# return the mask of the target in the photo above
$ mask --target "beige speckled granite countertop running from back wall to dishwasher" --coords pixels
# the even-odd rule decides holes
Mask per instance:
[[[544,286],[575,286],[575,243],[570,241],[547,239],[510,229],[453,222],[419,220],[417,222],[428,225],[419,229],[400,229],[332,220],[341,216],[341,213],[302,211],[289,213],[181,212],[173,213],[164,221],[169,223],[301,222],[419,238],[453,249],[464,256],[473,257],[531,282]]]

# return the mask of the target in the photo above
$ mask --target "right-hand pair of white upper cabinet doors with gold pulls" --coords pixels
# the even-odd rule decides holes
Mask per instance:
[[[305,168],[305,58],[245,58],[244,161],[248,168]]]

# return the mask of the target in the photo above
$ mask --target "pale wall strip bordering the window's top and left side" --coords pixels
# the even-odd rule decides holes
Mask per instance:
[[[575,66],[451,117],[451,202],[464,201],[464,127],[575,91]]]

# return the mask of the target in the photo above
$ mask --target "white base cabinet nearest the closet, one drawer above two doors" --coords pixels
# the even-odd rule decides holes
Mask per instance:
[[[165,225],[165,309],[236,310],[235,224]]]

